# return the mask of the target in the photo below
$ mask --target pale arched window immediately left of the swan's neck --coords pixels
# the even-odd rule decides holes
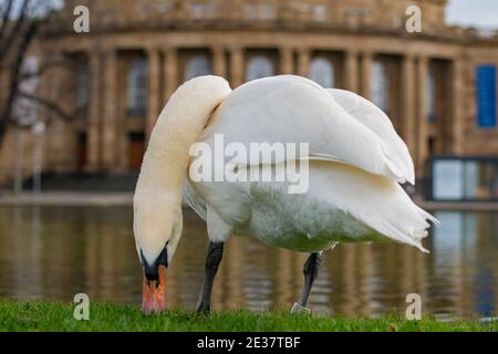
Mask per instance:
[[[147,61],[139,58],[128,70],[127,113],[131,116],[145,116],[147,110]]]

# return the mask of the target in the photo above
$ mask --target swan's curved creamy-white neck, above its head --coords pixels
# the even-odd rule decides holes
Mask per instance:
[[[177,88],[152,132],[135,194],[167,194],[181,201],[190,146],[212,111],[231,92],[219,76],[199,76]]]

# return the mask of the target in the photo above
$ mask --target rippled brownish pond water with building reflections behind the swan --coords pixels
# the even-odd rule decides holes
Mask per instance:
[[[339,244],[310,298],[315,312],[376,316],[404,313],[419,293],[423,311],[473,316],[498,304],[498,215],[437,212],[430,254],[401,244]],[[141,303],[142,270],[131,208],[1,208],[0,296]],[[204,275],[206,227],[184,215],[184,237],[168,274],[170,306],[193,308]],[[297,301],[307,254],[231,238],[212,293],[215,309],[266,310]]]

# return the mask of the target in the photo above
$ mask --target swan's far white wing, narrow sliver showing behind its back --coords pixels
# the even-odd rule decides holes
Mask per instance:
[[[412,156],[387,115],[372,102],[353,92],[336,88],[326,88],[326,92],[344,111],[381,138],[390,159],[402,169],[407,181],[414,185],[415,169]]]

